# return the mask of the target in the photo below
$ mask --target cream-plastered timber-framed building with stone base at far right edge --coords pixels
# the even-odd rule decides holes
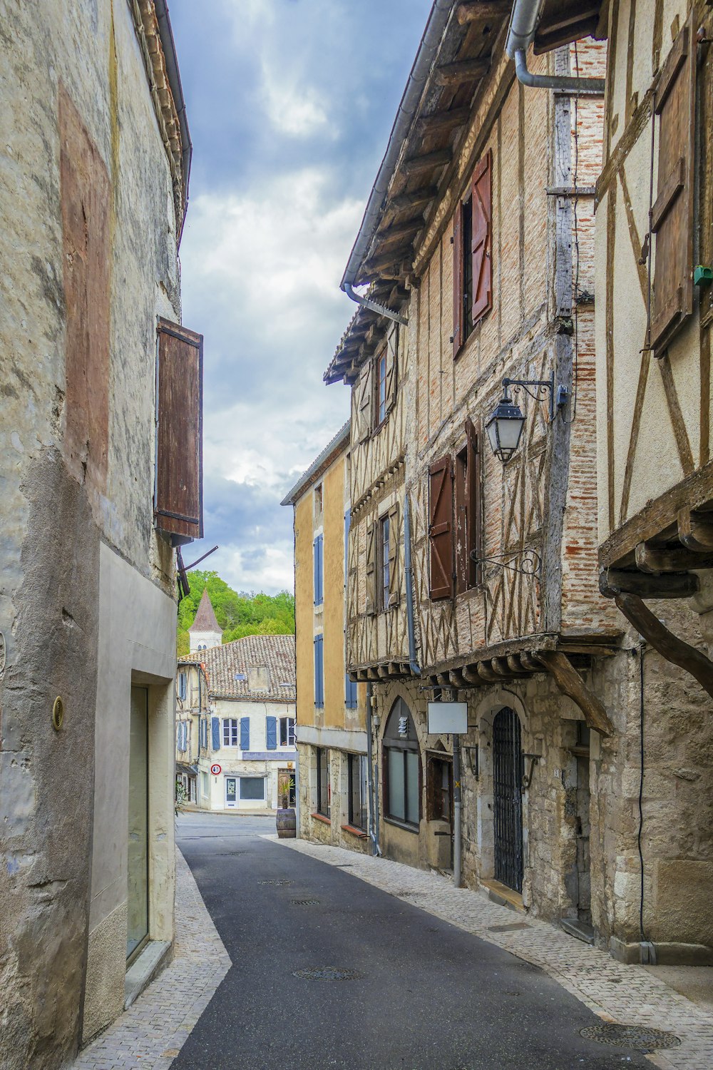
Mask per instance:
[[[621,738],[602,769],[624,804],[604,843],[606,910],[622,953],[647,942],[660,961],[700,962],[713,947],[713,20],[686,0],[619,0],[607,20],[599,556],[632,653],[615,667]]]

